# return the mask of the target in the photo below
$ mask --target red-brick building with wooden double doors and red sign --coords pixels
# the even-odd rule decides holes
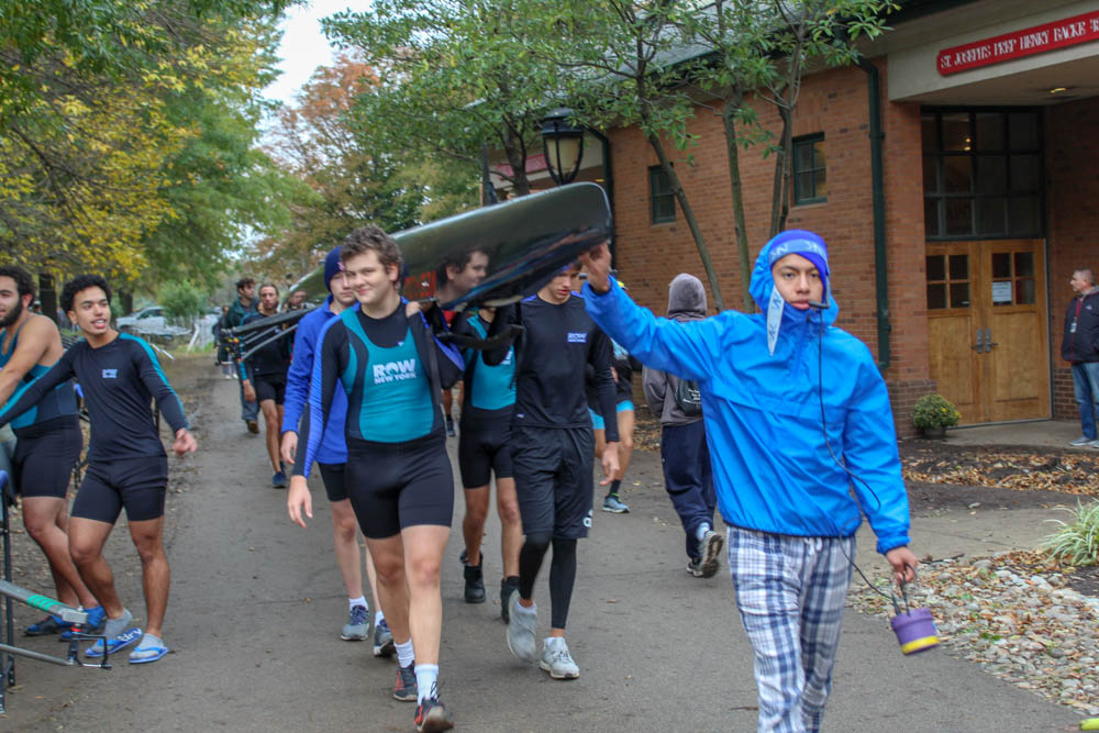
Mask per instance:
[[[958,406],[963,424],[1077,419],[1059,345],[1073,270],[1099,270],[1099,9],[901,4],[892,30],[865,49],[879,80],[880,181],[872,169],[873,71],[808,76],[787,227],[829,243],[837,325],[878,357],[900,434],[912,433],[912,403],[932,391]],[[757,110],[779,129],[773,108]],[[699,140],[695,165],[679,156],[676,169],[726,307],[739,307],[721,120],[700,107],[689,132]],[[606,182],[611,173],[619,277],[662,313],[676,273],[706,280],[701,263],[641,133],[606,137],[607,149],[588,137],[579,178]],[[741,170],[754,260],[767,235],[774,159],[751,148]],[[877,245],[876,184],[885,204]]]

